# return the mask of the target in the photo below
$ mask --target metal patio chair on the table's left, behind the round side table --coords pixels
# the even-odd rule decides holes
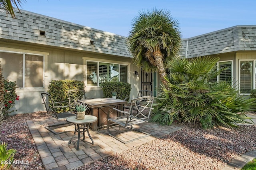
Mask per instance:
[[[51,95],[48,93],[41,93],[41,96],[43,98],[43,104],[46,108],[48,115],[55,117],[58,120],[65,119],[64,123],[63,122],[56,123],[53,125],[45,126],[45,128],[54,134],[65,133],[66,131],[63,131],[63,132],[54,131],[54,127],[69,124],[68,122],[66,122],[66,118],[76,115],[74,112],[72,113],[70,111],[70,107],[71,107],[70,104],[68,102],[64,102],[64,101],[63,102],[53,102]],[[57,113],[57,111],[56,111],[57,108],[68,108],[68,111],[65,111],[62,113]]]

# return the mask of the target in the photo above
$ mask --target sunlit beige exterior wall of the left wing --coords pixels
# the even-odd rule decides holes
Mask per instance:
[[[0,41],[0,51],[15,51],[44,55],[44,88],[18,88],[16,90],[20,100],[16,101],[12,114],[31,113],[45,110],[42,104],[42,92],[47,92],[51,80],[80,80],[86,84],[86,60],[101,62],[114,62],[128,65],[128,83],[132,86],[131,97],[137,96],[139,90],[139,78],[135,77],[136,66],[131,64],[131,58],[86,51],[70,51],[41,47],[38,45],[25,45],[20,42],[7,43]],[[0,63],[1,64],[1,63]],[[100,87],[86,86],[86,96],[102,98],[103,92]]]

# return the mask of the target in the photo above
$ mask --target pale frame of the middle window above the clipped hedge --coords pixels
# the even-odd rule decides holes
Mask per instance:
[[[97,63],[97,85],[96,86],[88,86],[87,84],[87,76],[88,76],[88,72],[87,72],[87,62],[92,62],[92,63]],[[127,75],[126,75],[126,80],[129,83],[129,64],[130,63],[126,63],[126,62],[117,62],[117,61],[105,61],[105,60],[93,60],[93,59],[85,59],[85,80],[86,80],[86,87],[90,87],[90,88],[99,88],[100,87],[100,81],[99,81],[99,66],[100,63],[106,63],[106,64],[117,64],[118,65],[118,70],[119,70],[119,76],[118,76],[118,82],[120,82],[120,65],[124,65],[127,67]]]

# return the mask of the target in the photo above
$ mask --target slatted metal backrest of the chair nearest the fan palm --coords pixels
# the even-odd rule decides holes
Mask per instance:
[[[132,99],[128,115],[129,119],[127,119],[126,125],[148,122],[153,102],[153,96],[142,96]]]

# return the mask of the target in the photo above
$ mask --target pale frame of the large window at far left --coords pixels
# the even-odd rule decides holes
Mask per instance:
[[[45,54],[40,54],[40,53],[29,53],[29,52],[21,52],[20,51],[7,51],[7,50],[1,50],[0,52],[2,53],[13,53],[13,54],[21,54],[23,55],[23,65],[22,65],[22,87],[19,87],[18,89],[43,89],[45,88],[45,82],[44,82],[44,77],[45,77]],[[26,55],[36,55],[36,56],[42,56],[43,57],[43,83],[42,87],[25,87],[25,65],[26,65]]]

